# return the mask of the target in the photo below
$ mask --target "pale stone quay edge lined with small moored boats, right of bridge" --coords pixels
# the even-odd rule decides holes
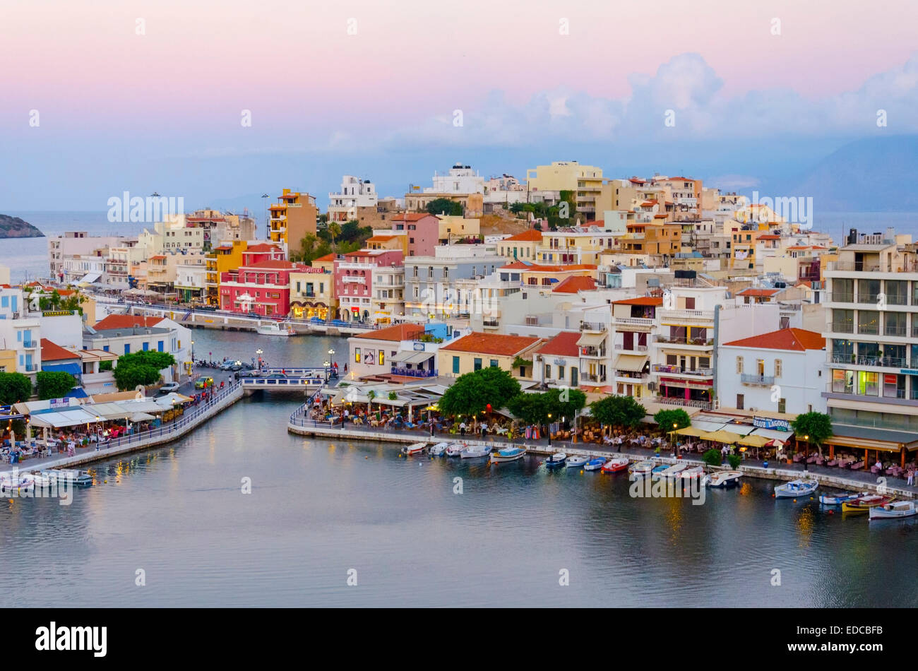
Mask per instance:
[[[672,456],[669,449],[656,454],[654,449],[643,447],[640,444],[599,445],[597,443],[571,442],[553,440],[549,443],[547,438],[539,440],[507,441],[498,436],[489,436],[485,440],[476,438],[477,434],[469,433],[465,437],[455,433],[434,431],[411,431],[405,429],[383,429],[373,427],[346,427],[341,421],[329,422],[309,419],[303,414],[304,408],[298,408],[287,423],[287,431],[299,435],[317,436],[328,439],[346,439],[353,441],[380,441],[380,442],[442,442],[462,441],[470,445],[491,445],[494,448],[509,447],[511,445],[525,446],[526,451],[532,454],[548,456],[553,453],[563,452],[568,455],[581,454],[603,458],[624,457],[633,461],[650,460],[660,464],[675,464],[677,459]],[[682,461],[702,464],[700,454],[682,453]],[[727,467],[727,466],[725,466]],[[821,486],[837,487],[851,491],[876,492],[881,486],[884,493],[894,494],[900,498],[918,498],[918,486],[906,485],[906,480],[900,477],[886,477],[885,485],[878,482],[876,475],[861,471],[839,471],[838,468],[817,466],[809,464],[804,471],[803,464],[768,464],[752,457],[743,460],[739,470],[751,477],[760,477],[769,480],[793,480],[802,475],[817,478]]]

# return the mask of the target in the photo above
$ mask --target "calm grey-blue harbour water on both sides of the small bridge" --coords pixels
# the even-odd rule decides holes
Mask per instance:
[[[332,347],[341,368],[345,361],[341,339],[194,334],[198,358],[249,361],[261,348],[272,365],[321,364]],[[812,608],[918,600],[912,521],[845,519],[815,499],[772,498],[774,482],[751,478],[693,506],[633,498],[627,474],[546,472],[532,456],[491,467],[405,458],[394,443],[289,434],[286,419],[301,402],[249,397],[179,442],[95,464],[96,485],[69,506],[0,502],[2,602]]]

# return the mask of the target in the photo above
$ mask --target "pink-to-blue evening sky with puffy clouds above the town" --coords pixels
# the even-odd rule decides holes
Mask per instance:
[[[918,133],[915,26],[912,0],[3,0],[0,212],[401,196],[453,162],[762,184]]]

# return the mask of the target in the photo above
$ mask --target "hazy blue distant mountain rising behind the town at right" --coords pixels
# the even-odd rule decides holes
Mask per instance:
[[[764,196],[812,196],[822,212],[905,212],[918,208],[918,137],[856,140]]]

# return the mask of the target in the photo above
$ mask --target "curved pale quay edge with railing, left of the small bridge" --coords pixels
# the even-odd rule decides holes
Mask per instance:
[[[20,474],[38,472],[50,468],[72,468],[110,459],[119,454],[137,452],[167,442],[174,442],[184,438],[185,435],[194,431],[208,419],[229,408],[229,406],[240,400],[243,395],[244,391],[241,383],[231,383],[228,387],[215,392],[212,402],[199,408],[188,410],[180,418],[162,424],[162,426],[158,426],[155,429],[129,433],[107,442],[90,443],[88,447],[77,448],[77,453],[73,456],[52,455],[39,459],[29,459],[22,464],[17,464],[15,468]],[[13,468],[7,467],[0,471],[0,474],[10,473],[13,470]]]

